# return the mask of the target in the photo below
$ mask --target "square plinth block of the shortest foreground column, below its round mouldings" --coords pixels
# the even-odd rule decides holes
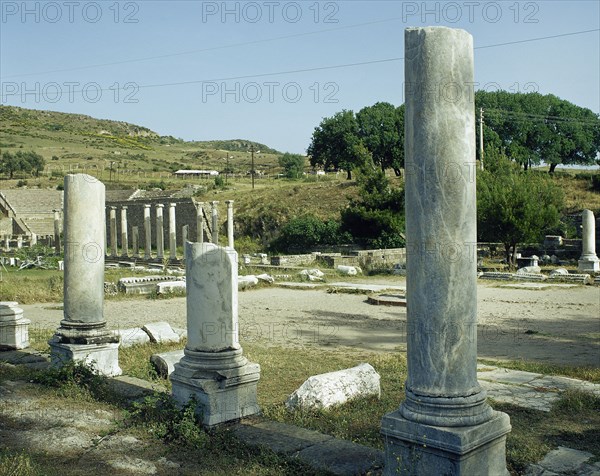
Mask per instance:
[[[260,365],[247,363],[242,367],[216,372],[210,378],[190,378],[178,374],[179,364],[169,376],[173,398],[187,404],[192,398],[198,402],[196,413],[206,427],[260,413],[256,387],[260,378]]]

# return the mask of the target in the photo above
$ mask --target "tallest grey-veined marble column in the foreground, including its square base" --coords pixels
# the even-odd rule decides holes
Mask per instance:
[[[477,382],[473,39],[405,32],[406,399],[382,420],[385,474],[508,475],[508,415]]]

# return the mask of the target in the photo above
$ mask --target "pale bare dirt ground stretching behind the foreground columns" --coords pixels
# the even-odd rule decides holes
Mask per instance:
[[[403,283],[395,279],[393,284]],[[62,319],[60,303],[21,307],[33,327],[56,328]],[[106,301],[105,317],[112,328],[155,321],[185,328],[185,298]],[[480,358],[600,366],[597,286],[532,290],[480,282],[478,319]],[[369,304],[364,294],[261,288],[239,293],[239,334],[242,345],[252,340],[279,346],[404,350],[406,309]]]

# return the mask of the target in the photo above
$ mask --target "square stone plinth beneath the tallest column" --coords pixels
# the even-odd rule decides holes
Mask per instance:
[[[468,427],[438,427],[416,423],[397,410],[385,415],[381,433],[385,439],[384,475],[443,474],[447,476],[508,476],[506,413]]]

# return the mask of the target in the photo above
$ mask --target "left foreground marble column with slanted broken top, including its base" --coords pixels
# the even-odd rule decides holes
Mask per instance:
[[[64,318],[49,341],[52,364],[84,361],[119,375],[119,338],[104,320],[104,185],[86,174],[65,177]]]

